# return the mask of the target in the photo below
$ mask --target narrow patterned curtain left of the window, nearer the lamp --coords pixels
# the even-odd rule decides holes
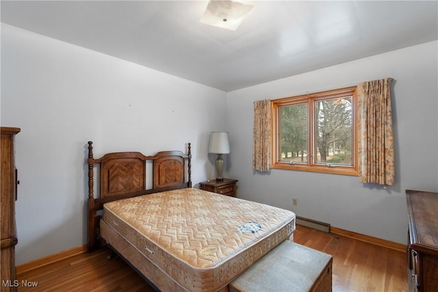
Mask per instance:
[[[270,171],[271,101],[254,102],[253,170]]]

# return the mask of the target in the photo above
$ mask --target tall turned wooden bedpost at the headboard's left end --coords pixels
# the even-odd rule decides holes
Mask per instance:
[[[93,142],[88,142],[88,252],[92,252],[96,245],[96,225],[94,211],[94,172],[93,172]]]

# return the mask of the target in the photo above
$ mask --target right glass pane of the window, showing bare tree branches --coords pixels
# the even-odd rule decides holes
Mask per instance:
[[[315,163],[352,165],[352,97],[315,102]]]

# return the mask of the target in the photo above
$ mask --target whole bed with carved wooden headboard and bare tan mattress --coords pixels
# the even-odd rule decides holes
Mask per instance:
[[[292,240],[293,212],[192,188],[190,143],[186,154],[95,159],[92,149],[88,142],[88,250],[109,245],[155,289],[228,291],[250,265]]]

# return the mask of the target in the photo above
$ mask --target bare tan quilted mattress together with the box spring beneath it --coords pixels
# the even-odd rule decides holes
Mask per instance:
[[[103,239],[120,235],[187,291],[223,289],[291,239],[295,228],[292,211],[192,188],[108,202],[103,209]]]

